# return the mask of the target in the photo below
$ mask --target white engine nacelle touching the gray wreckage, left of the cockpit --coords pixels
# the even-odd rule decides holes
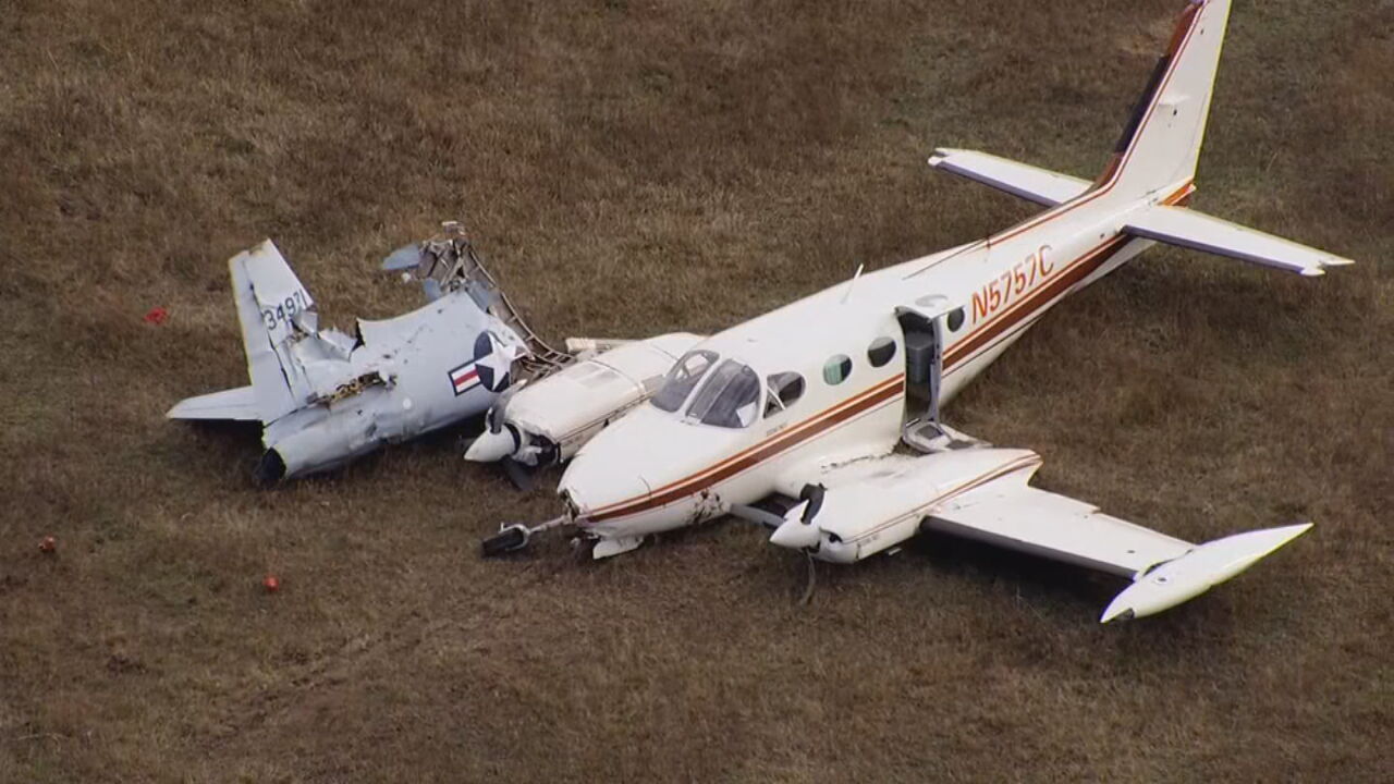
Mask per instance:
[[[620,343],[506,392],[464,458],[512,459],[528,467],[569,460],[605,425],[658,392],[677,357],[698,340],[676,332]]]

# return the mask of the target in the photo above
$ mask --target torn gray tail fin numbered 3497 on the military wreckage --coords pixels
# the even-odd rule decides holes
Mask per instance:
[[[270,240],[234,255],[227,266],[256,412],[272,423],[300,407],[283,353],[296,333],[315,331],[315,301]]]

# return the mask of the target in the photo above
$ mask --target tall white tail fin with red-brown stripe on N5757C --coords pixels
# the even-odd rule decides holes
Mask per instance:
[[[1188,3],[1096,188],[1125,198],[1171,194],[1196,174],[1230,0]]]

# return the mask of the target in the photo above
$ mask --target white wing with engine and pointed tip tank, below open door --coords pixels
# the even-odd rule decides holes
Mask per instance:
[[[1310,523],[1192,544],[1029,485],[1039,455],[965,446],[889,455],[824,472],[769,541],[852,562],[934,530],[1131,578],[1103,622],[1200,596],[1305,533]]]

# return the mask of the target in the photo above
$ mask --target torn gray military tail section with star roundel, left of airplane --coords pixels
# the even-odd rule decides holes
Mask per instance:
[[[322,472],[481,414],[520,375],[570,357],[517,317],[459,223],[397,250],[383,268],[415,278],[428,304],[354,335],[319,329],[315,301],[270,240],[229,261],[248,386],[199,395],[178,420],[262,423],[256,480]]]

